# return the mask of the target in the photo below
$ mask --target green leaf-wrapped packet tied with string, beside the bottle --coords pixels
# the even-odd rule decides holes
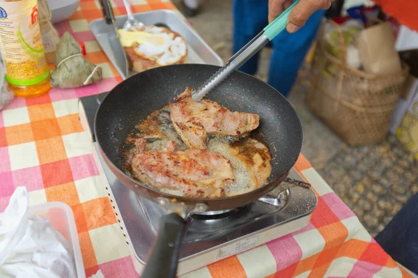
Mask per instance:
[[[56,47],[51,86],[77,88],[99,82],[102,78],[102,68],[87,61],[77,40],[65,32]]]

